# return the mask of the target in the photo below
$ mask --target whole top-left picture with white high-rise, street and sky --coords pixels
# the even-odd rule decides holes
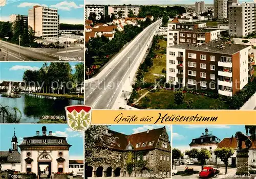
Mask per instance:
[[[0,61],[84,61],[83,0],[0,0]]]

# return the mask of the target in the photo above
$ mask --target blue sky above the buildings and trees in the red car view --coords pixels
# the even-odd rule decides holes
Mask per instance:
[[[173,148],[189,150],[190,142],[205,133],[206,128],[221,140],[234,136],[238,131],[246,134],[244,125],[173,125]]]

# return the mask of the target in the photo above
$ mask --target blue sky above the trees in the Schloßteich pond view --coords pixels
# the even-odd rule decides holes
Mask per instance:
[[[0,83],[3,81],[22,82],[26,70],[39,70],[45,62],[0,62]],[[68,62],[73,72],[77,62]],[[48,63],[49,65],[50,63]]]

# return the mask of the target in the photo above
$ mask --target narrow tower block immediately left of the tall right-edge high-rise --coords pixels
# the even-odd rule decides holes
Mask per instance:
[[[214,0],[214,18],[227,18],[227,0]]]

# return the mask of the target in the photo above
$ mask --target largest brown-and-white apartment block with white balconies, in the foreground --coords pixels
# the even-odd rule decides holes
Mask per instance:
[[[248,82],[251,46],[214,40],[180,43],[166,51],[166,81],[174,85],[232,96]]]

